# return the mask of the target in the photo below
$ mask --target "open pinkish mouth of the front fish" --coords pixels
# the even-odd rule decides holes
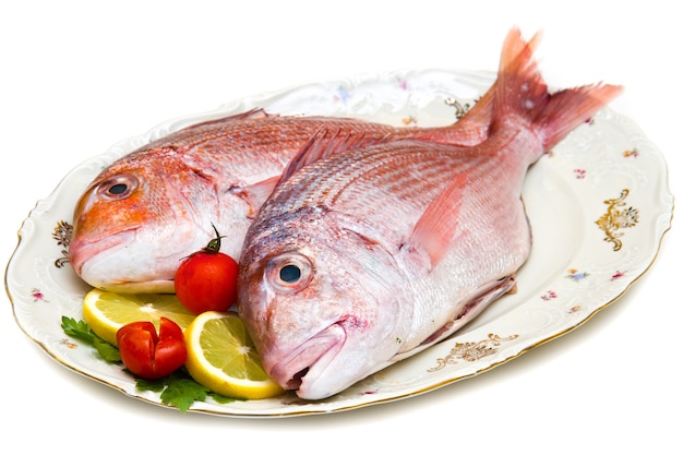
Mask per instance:
[[[276,363],[269,375],[283,388],[298,391],[325,371],[345,342],[346,332],[342,324],[334,323],[303,342],[288,357]]]

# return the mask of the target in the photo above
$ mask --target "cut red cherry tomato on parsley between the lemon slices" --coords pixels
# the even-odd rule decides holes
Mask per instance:
[[[125,324],[117,332],[117,344],[125,368],[151,381],[169,375],[188,358],[182,328],[166,318],[158,335],[149,321]]]

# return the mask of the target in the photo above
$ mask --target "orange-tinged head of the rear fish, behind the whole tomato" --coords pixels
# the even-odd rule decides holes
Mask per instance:
[[[132,155],[105,169],[74,208],[69,262],[75,273],[107,290],[172,291],[180,259],[214,237],[200,214],[211,217],[211,199],[188,179],[197,178],[172,157]]]

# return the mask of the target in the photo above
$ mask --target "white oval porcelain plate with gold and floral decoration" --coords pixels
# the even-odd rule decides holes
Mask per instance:
[[[325,81],[248,97],[122,141],[73,169],[22,225],[5,277],[16,322],[71,370],[161,404],[158,394],[137,391],[120,367],[99,360],[60,325],[62,315],[82,318],[82,299],[89,290],[65,260],[73,207],[105,166],[185,125],[253,107],[398,125],[448,124],[492,81],[490,73],[442,70]],[[655,260],[673,211],[661,153],[636,124],[610,109],[530,169],[524,199],[534,250],[517,275],[517,292],[496,301],[452,338],[325,400],[304,402],[291,394],[229,404],[207,399],[191,411],[242,417],[340,411],[410,397],[490,370],[578,326],[623,295]]]

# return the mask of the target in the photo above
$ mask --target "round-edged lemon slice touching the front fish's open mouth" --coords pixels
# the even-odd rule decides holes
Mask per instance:
[[[254,344],[235,312],[200,314],[185,330],[185,345],[188,372],[214,393],[248,399],[283,393],[263,370]]]

